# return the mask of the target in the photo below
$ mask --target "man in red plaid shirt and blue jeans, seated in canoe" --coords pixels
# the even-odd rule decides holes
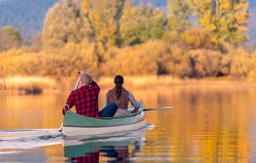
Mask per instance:
[[[101,112],[98,110],[98,95],[100,87],[96,82],[92,81],[88,73],[81,72],[79,82],[81,87],[70,93],[67,98],[67,104],[62,109],[62,114],[65,115],[65,110],[76,107],[76,112],[79,115],[90,117],[112,117],[118,109],[116,104],[108,104]],[[68,107],[67,107],[68,106]]]

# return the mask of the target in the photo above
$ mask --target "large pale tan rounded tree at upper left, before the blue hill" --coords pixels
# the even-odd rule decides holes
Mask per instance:
[[[62,0],[49,9],[42,33],[45,46],[59,48],[67,42],[93,40],[93,29],[78,0]]]

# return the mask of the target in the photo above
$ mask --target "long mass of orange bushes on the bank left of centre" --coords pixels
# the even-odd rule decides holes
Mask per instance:
[[[93,44],[68,43],[64,48],[39,53],[14,49],[0,53],[1,76],[76,76],[79,70],[97,74],[98,58]]]

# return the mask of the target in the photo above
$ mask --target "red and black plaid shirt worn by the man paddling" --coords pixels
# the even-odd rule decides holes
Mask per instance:
[[[97,83],[92,81],[90,85],[82,86],[70,93],[67,105],[70,109],[75,105],[79,115],[99,117],[98,94],[100,89]],[[64,109],[67,110],[67,106],[62,109],[63,115]]]

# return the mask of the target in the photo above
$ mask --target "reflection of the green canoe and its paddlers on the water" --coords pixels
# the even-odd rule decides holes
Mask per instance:
[[[94,138],[64,138],[64,156],[68,161],[99,162],[100,154],[108,162],[130,162],[143,148],[146,128],[136,132],[109,134]]]

